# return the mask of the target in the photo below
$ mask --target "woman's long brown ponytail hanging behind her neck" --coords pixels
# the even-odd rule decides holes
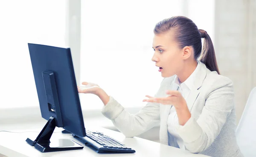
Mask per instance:
[[[209,70],[217,71],[217,73],[220,74],[210,36],[207,34],[207,31],[202,29],[199,29],[198,31],[201,34],[201,38],[204,38],[203,49],[201,51],[201,55],[199,56],[199,61],[203,62]]]

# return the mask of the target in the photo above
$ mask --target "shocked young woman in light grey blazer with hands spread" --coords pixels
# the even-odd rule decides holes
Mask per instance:
[[[204,38],[202,49],[201,38]],[[126,137],[160,123],[160,142],[213,157],[242,157],[236,142],[232,81],[221,76],[212,41],[186,17],[171,17],[154,28],[152,61],[162,77],[154,97],[131,115],[102,88],[83,82],[79,93],[98,95],[103,115]]]

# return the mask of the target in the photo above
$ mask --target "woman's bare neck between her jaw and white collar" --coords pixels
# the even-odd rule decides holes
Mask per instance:
[[[181,70],[179,74],[177,74],[180,83],[183,83],[186,81],[187,78],[195,71],[195,68],[197,67],[198,62],[196,60],[193,60],[192,62],[185,62],[184,67]]]

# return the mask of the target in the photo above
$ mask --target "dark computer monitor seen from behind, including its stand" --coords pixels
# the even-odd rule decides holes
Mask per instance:
[[[48,122],[33,141],[41,152],[83,149],[69,139],[50,142],[55,126],[86,136],[70,48],[28,43],[41,116]]]

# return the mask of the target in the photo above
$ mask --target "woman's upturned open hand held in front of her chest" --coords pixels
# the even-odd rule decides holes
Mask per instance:
[[[143,102],[154,102],[160,103],[163,105],[173,105],[175,109],[180,109],[187,107],[186,100],[183,98],[181,93],[177,90],[167,90],[166,94],[169,96],[167,97],[151,97],[146,95],[148,99],[144,99]]]

